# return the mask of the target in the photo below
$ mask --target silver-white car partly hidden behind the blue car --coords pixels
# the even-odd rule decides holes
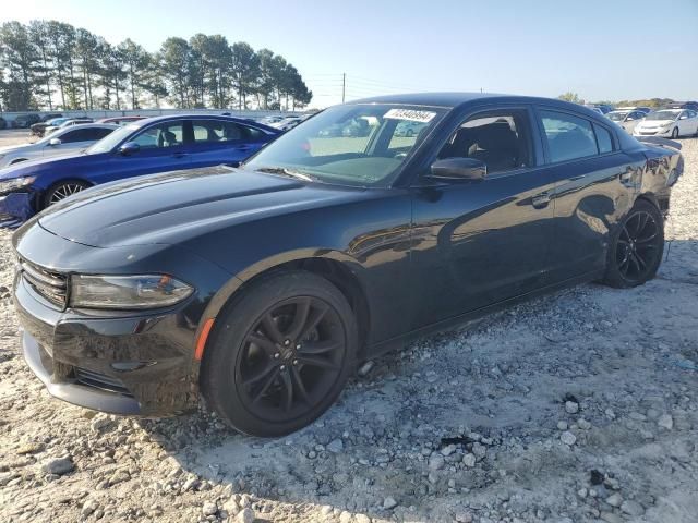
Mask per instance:
[[[19,161],[74,155],[100,141],[119,125],[109,123],[83,123],[59,129],[50,136],[33,144],[0,147],[0,168]]]

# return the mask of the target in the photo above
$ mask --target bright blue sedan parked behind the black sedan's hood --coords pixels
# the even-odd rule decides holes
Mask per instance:
[[[248,120],[177,114],[130,123],[77,156],[0,170],[0,224],[13,226],[100,183],[156,172],[236,166],[280,131]]]

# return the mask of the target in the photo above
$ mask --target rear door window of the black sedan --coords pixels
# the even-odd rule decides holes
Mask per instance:
[[[589,120],[555,111],[541,111],[541,120],[551,162],[598,155]]]

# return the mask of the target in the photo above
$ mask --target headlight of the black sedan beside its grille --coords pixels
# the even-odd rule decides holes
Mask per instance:
[[[171,276],[71,277],[71,305],[88,308],[157,308],[174,305],[194,289]]]

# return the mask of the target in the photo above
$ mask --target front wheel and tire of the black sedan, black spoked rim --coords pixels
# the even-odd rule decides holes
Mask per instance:
[[[357,346],[353,312],[335,285],[311,272],[280,272],[244,291],[218,316],[201,388],[234,429],[284,436],[335,402]]]

